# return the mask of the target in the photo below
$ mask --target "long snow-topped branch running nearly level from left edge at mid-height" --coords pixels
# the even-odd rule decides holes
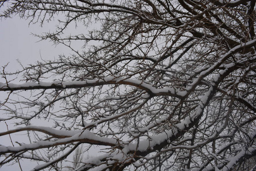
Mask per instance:
[[[127,79],[122,77],[105,77],[100,79],[86,79],[84,81],[73,82],[27,82],[24,84],[13,83],[1,83],[0,91],[18,91],[18,90],[30,90],[30,89],[67,89],[67,88],[83,88],[83,87],[95,87],[108,84],[123,84],[127,86],[134,86],[147,91],[153,96],[174,96],[182,98],[186,95],[185,91],[179,91],[174,87],[157,89],[151,84],[145,83],[141,80]]]

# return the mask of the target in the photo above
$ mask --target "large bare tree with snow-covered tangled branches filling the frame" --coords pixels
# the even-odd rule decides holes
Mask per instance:
[[[254,1],[4,2],[2,17],[59,19],[39,38],[74,54],[23,67],[13,82],[3,67],[0,120],[23,127],[0,135],[27,132],[30,143],[2,145],[1,165],[65,170],[78,144],[104,154],[73,170],[230,170],[254,155],[241,148],[255,146]],[[25,127],[42,119],[50,129]]]

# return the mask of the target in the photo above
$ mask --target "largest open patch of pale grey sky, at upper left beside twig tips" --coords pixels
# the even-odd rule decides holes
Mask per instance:
[[[18,17],[2,19],[0,21],[0,59],[1,66],[10,62],[9,70],[15,70],[19,64],[17,59],[22,64],[34,63],[43,59],[58,58],[60,48],[56,49],[52,42],[47,40],[39,41],[39,38],[31,35],[31,32],[40,34],[48,32],[54,28],[52,26],[39,27],[38,24],[30,25],[29,21],[19,19]]]

